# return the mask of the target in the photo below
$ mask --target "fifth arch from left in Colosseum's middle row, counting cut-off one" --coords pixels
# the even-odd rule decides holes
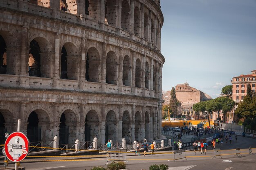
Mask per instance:
[[[106,59],[106,83],[116,85],[118,78],[118,63],[115,52],[108,52]]]

